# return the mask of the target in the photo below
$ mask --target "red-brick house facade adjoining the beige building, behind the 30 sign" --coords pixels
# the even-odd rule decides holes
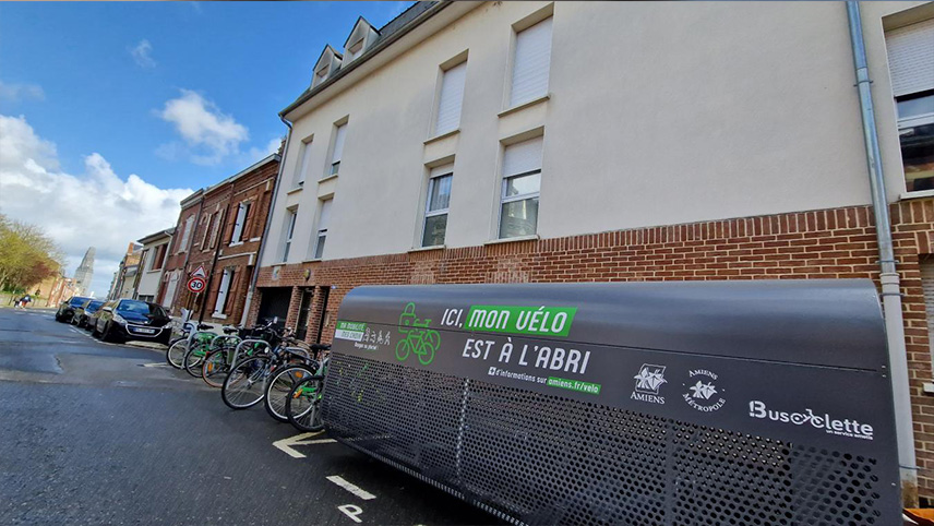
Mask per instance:
[[[205,189],[199,205],[187,208],[197,208],[200,213],[183,212],[179,217],[177,228],[183,230],[187,220],[192,220],[193,226],[187,253],[177,254],[173,261],[181,280],[171,303],[172,313],[184,308],[207,323],[241,322],[278,168],[279,156],[270,155]],[[204,292],[193,294],[185,283],[199,266],[207,274],[207,286]]]

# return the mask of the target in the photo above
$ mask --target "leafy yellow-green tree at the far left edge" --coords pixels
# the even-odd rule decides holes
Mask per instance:
[[[63,259],[41,228],[0,214],[0,288],[26,290],[60,272]]]

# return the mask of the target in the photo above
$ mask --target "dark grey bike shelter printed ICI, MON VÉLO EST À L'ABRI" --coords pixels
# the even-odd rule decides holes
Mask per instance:
[[[515,524],[900,524],[870,280],[375,286],[331,435]]]

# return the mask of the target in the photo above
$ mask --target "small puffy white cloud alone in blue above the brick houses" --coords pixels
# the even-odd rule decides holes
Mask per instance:
[[[189,147],[191,160],[200,165],[216,165],[229,155],[240,153],[240,143],[250,139],[247,127],[225,115],[211,100],[190,89],[166,101],[158,116],[175,124],[176,131]],[[161,145],[157,150],[178,155],[177,146]]]

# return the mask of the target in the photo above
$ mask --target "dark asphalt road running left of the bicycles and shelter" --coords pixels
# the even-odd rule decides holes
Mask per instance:
[[[163,363],[0,309],[0,524],[500,524]]]

